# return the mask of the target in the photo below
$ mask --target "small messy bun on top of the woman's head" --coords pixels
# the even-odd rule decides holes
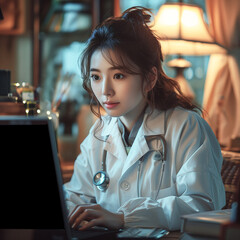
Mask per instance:
[[[122,18],[132,24],[146,25],[150,22],[151,11],[144,7],[132,7],[123,12]]]

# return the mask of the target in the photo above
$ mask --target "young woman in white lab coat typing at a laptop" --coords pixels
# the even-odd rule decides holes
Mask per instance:
[[[149,21],[140,7],[107,19],[82,55],[83,86],[99,120],[64,186],[75,229],[177,230],[181,215],[225,205],[219,144],[199,109],[164,74]]]

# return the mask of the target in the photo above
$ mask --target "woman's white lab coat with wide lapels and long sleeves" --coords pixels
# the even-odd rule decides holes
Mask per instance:
[[[128,155],[116,118],[103,117],[104,126],[96,132],[102,141],[94,136],[98,123],[92,127],[81,144],[72,179],[64,186],[69,211],[76,204],[96,202],[109,211],[123,212],[125,227],[177,230],[181,215],[225,205],[221,150],[208,124],[197,113],[182,108],[154,111],[150,116],[148,111]],[[161,189],[155,200],[162,161],[155,160],[156,153],[149,151],[146,136],[158,134],[165,137],[167,153]],[[93,176],[101,170],[104,149],[110,184],[101,192],[93,185]]]

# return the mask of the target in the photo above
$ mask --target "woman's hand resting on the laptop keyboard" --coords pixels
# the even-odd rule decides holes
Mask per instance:
[[[98,204],[80,205],[76,206],[70,214],[69,224],[72,228],[78,230],[85,230],[94,226],[118,230],[124,225],[124,215],[109,212]]]

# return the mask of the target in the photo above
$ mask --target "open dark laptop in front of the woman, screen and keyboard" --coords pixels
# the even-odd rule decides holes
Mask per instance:
[[[0,239],[115,239],[112,231],[71,231],[48,118],[1,116],[0,156]]]

